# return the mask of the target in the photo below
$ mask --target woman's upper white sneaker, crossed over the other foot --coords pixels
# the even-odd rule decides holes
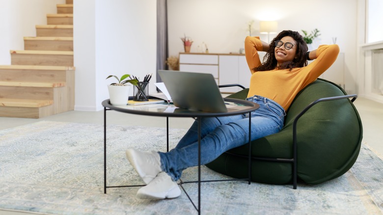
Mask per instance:
[[[135,168],[145,184],[149,184],[162,171],[161,158],[157,152],[139,152],[134,149],[126,150],[126,157]]]

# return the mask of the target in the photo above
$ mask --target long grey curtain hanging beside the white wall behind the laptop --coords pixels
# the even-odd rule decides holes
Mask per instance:
[[[167,0],[157,0],[157,71],[167,69]],[[157,82],[162,82],[156,73]]]

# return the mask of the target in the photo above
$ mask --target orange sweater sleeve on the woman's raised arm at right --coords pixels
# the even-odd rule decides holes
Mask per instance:
[[[335,62],[339,54],[339,46],[336,44],[321,45],[318,47],[316,54],[317,58],[304,69],[307,78],[311,81],[315,81]]]

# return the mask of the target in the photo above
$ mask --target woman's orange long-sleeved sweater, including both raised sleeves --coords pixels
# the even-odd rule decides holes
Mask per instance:
[[[263,96],[274,100],[287,110],[295,96],[309,83],[315,81],[336,60],[338,45],[321,45],[316,51],[317,59],[301,68],[254,72],[252,69],[261,65],[258,51],[262,43],[257,37],[245,39],[247,65],[252,73],[247,97]]]

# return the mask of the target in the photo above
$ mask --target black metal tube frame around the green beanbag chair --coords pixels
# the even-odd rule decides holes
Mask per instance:
[[[241,84],[224,84],[224,85],[219,85],[219,88],[221,87],[233,87],[233,86],[238,86],[241,87],[242,89],[245,89]],[[306,108],[304,108],[294,119],[293,123],[293,158],[292,159],[284,159],[284,158],[264,158],[264,157],[253,157],[251,156],[251,159],[253,160],[259,160],[259,161],[273,161],[273,162],[292,162],[293,163],[293,188],[297,189],[297,179],[298,179],[298,170],[297,170],[297,123],[298,120],[301,118],[301,116],[310,108],[312,108],[314,105],[320,103],[320,102],[326,102],[326,101],[333,101],[333,100],[339,100],[339,99],[349,99],[353,98],[351,100],[352,103],[357,98],[356,94],[352,95],[345,95],[345,96],[334,96],[334,97],[326,97],[326,98],[321,98],[317,99],[314,102],[310,103]],[[237,157],[243,157],[243,158],[248,158],[247,156],[244,155],[238,155],[230,152],[225,152],[230,155],[234,155]]]

